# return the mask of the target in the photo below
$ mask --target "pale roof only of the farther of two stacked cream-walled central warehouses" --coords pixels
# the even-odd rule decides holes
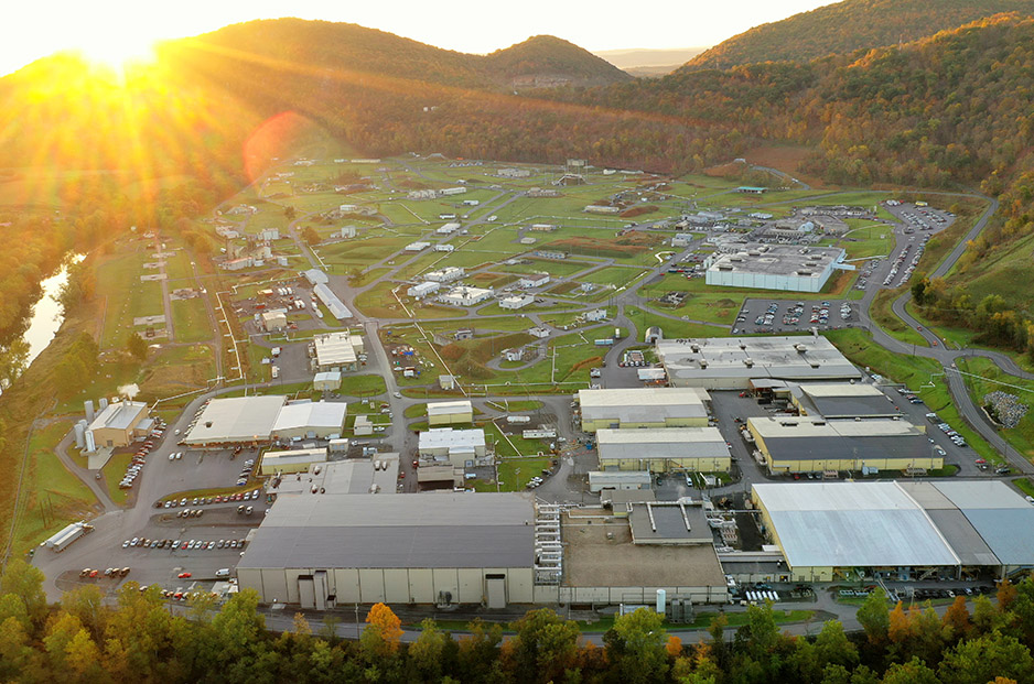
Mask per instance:
[[[708,415],[700,393],[692,388],[579,390],[578,400],[584,421],[617,417],[628,423],[656,423]]]

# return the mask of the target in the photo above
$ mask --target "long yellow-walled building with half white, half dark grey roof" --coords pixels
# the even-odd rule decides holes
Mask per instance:
[[[750,436],[768,471],[931,470],[944,467],[926,433],[907,421],[751,417]]]

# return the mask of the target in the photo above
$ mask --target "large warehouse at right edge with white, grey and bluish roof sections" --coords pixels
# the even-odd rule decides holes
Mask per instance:
[[[1034,507],[998,480],[758,484],[790,582],[1003,577],[1034,566]]]

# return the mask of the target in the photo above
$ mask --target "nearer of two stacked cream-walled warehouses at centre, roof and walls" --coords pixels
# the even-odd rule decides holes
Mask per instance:
[[[718,427],[599,430],[596,444],[604,470],[729,471],[731,454]]]

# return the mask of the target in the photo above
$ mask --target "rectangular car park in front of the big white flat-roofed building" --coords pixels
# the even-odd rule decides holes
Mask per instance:
[[[836,330],[858,323],[858,302],[848,300],[745,300],[733,334]]]

